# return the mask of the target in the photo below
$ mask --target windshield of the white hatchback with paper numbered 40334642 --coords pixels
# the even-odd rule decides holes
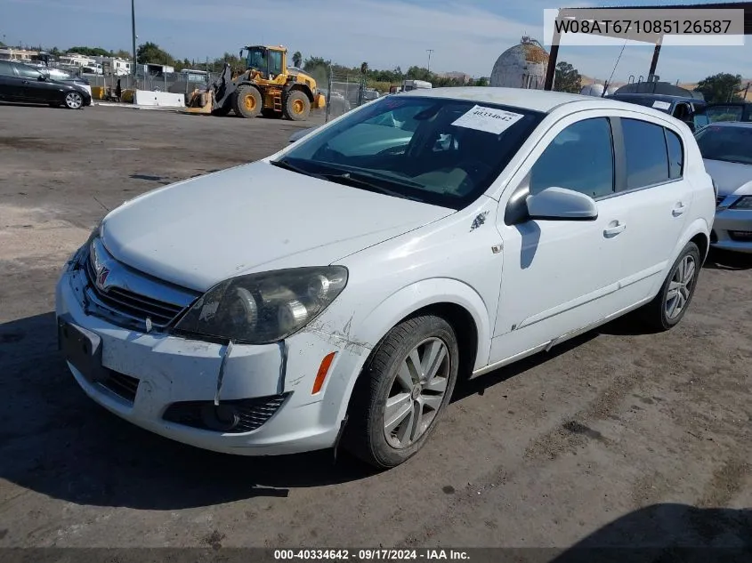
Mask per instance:
[[[301,141],[276,164],[461,209],[489,188],[544,115],[474,101],[392,96]]]

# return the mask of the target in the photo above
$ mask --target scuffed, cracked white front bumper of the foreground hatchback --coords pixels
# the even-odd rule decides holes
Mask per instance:
[[[145,334],[93,316],[81,299],[86,284],[83,269],[71,266],[61,274],[55,308],[60,337],[69,342],[70,334],[62,336],[66,329],[88,334],[84,348],[98,348],[84,350],[89,359],[81,363],[67,346],[66,361],[78,385],[110,412],[166,438],[230,454],[292,454],[334,446],[368,350],[312,331],[279,344],[235,345],[222,368],[220,406],[255,399],[260,410],[246,416],[255,422],[252,426],[261,423],[250,431],[197,428],[174,422],[170,413],[175,404],[214,408],[227,347],[157,331]],[[321,361],[330,352],[336,356],[324,386],[312,395]]]

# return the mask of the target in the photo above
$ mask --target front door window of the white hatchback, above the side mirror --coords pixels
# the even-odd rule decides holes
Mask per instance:
[[[590,197],[613,193],[613,146],[606,117],[569,125],[538,157],[530,170],[530,194],[552,187],[573,189]]]

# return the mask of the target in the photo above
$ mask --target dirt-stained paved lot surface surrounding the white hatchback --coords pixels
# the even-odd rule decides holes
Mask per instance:
[[[0,106],[0,547],[752,545],[752,261],[666,334],[619,321],[457,390],[416,458],[211,454],[118,420],[56,350],[105,208],[270,154],[290,122]]]

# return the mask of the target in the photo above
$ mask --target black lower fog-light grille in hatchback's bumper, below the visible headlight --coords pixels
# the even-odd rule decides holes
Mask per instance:
[[[260,428],[279,410],[289,393],[271,397],[221,401],[185,401],[173,403],[162,418],[191,428],[240,434]]]

